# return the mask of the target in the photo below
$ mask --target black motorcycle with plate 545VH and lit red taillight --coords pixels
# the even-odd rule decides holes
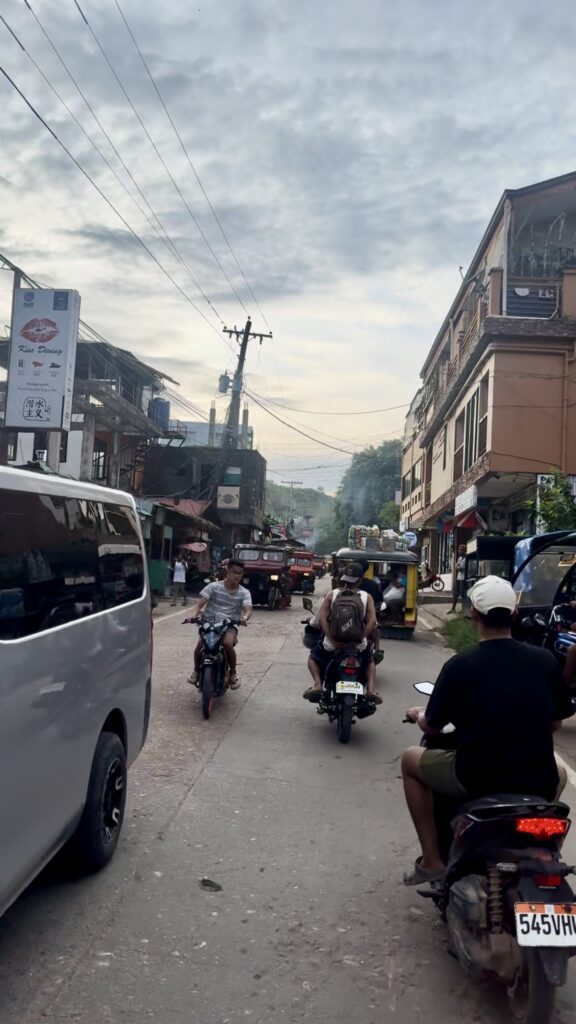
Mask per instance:
[[[416,683],[429,696],[434,683]],[[453,746],[454,729],[425,736]],[[458,804],[435,794],[442,881],[420,895],[448,926],[453,951],[474,979],[507,988],[513,1020],[550,1024],[556,992],[576,953],[576,902],[562,860],[570,827],[567,804],[537,796],[494,794]]]

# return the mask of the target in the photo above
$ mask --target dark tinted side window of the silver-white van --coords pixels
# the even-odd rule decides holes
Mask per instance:
[[[0,640],[31,636],[133,601],[143,558],[130,507],[3,490]]]

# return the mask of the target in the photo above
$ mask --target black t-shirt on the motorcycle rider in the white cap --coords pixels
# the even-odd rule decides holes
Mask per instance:
[[[456,775],[472,797],[558,787],[551,723],[574,714],[547,650],[485,640],[446,663],[426,709],[437,729],[456,726]]]

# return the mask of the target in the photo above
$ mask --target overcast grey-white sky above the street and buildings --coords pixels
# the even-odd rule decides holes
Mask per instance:
[[[576,169],[573,0],[119,2],[274,332],[249,352],[248,387],[345,452],[398,436],[403,409],[334,414],[410,400],[503,188]],[[207,411],[235,361],[221,322],[242,326],[248,311],[254,329],[266,324],[115,0],[81,5],[196,224],[74,0],[31,5],[132,179],[23,0],[0,0],[0,12],[139,208],[0,24],[1,66],[212,326],[3,76],[0,252],[78,289],[85,321]],[[0,333],[9,286],[0,274]],[[251,420],[273,479],[335,488],[348,456],[253,403]]]

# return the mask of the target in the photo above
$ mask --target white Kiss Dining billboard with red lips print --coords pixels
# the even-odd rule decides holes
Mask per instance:
[[[70,430],[80,296],[51,288],[17,288],[4,425]]]

